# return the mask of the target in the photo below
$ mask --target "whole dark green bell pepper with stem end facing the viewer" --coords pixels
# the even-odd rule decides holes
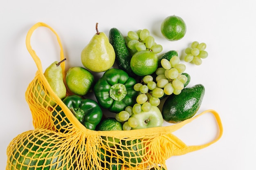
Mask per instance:
[[[136,103],[138,92],[133,88],[136,83],[125,71],[110,68],[94,85],[94,94],[101,107],[119,113]]]

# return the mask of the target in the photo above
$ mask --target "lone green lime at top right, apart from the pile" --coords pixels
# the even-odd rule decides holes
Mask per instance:
[[[161,32],[167,40],[177,41],[186,34],[186,24],[182,18],[171,15],[162,22]]]

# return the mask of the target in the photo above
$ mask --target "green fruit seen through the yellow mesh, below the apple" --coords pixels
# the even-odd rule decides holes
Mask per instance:
[[[136,167],[144,158],[144,144],[140,139],[121,140],[121,144],[117,148],[120,148],[117,150],[117,154],[124,157],[124,163],[128,163],[132,167]]]

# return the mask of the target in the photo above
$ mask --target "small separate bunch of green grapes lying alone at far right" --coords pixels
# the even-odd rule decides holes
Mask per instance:
[[[206,44],[204,42],[200,43],[197,41],[192,42],[190,47],[185,49],[186,56],[184,57],[185,62],[193,62],[195,65],[201,65],[202,59],[208,57],[206,49]]]

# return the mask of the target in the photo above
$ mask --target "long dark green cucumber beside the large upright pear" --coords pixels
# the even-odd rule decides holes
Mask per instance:
[[[119,69],[122,69],[128,73],[130,77],[137,77],[135,73],[132,72],[130,67],[130,60],[132,55],[126,44],[126,40],[122,35],[121,31],[117,28],[112,28],[109,31],[109,42],[112,44],[115,54],[116,54],[116,63]]]

